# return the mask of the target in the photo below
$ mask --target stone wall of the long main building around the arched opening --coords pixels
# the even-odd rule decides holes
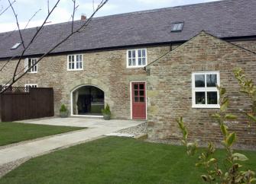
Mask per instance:
[[[147,47],[147,63],[170,51],[170,46]],[[79,53],[80,54],[80,53]],[[0,67],[6,61],[0,62]],[[14,60],[0,75],[0,84],[5,84],[15,68]],[[95,85],[105,92],[113,117],[131,119],[130,81],[146,81],[144,68],[126,68],[126,49],[102,52],[83,52],[83,71],[67,71],[67,56],[48,56],[38,63],[36,74],[27,74],[14,86],[38,84],[38,87],[53,87],[55,113],[65,103],[70,109],[70,93],[80,85]],[[19,71],[24,68],[24,59]]]

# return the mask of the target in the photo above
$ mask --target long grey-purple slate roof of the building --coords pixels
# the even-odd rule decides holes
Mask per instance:
[[[170,32],[171,25],[177,21],[184,22],[183,31]],[[81,21],[75,21],[76,26],[79,24]],[[70,29],[70,22],[45,26],[25,55],[47,52]],[[36,28],[30,28],[21,31],[25,43],[35,30]],[[256,1],[223,0],[95,17],[86,30],[76,33],[53,52],[175,43],[190,40],[201,30],[219,38],[256,36]],[[22,46],[10,49],[18,41],[18,31],[0,33],[0,59],[19,56]]]

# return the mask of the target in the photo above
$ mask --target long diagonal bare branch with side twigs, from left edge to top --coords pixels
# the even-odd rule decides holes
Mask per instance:
[[[74,0],[74,1],[76,1],[76,0]],[[58,1],[59,2],[59,1]],[[41,60],[42,59],[44,59],[44,57],[45,56],[47,56],[47,55],[49,55],[51,52],[53,52],[53,50],[54,49],[56,49],[58,46],[60,46],[62,43],[64,43],[64,42],[66,42],[66,40],[68,40],[68,39],[70,39],[70,37],[71,36],[73,36],[73,34],[75,34],[75,33],[79,33],[80,32],[80,30],[82,30],[82,29],[85,29],[88,25],[89,25],[89,23],[92,21],[92,17],[94,17],[94,15],[99,11],[99,9],[100,8],[102,8],[107,2],[109,2],[109,0],[102,0],[102,2],[100,2],[99,3],[99,5],[97,6],[97,8],[96,8],[96,10],[95,11],[93,11],[93,13],[91,14],[91,16],[85,21],[85,23],[83,23],[82,25],[80,25],[76,30],[73,30],[69,35],[67,35],[63,40],[61,40],[59,43],[57,43],[55,46],[53,46],[48,52],[46,52],[46,53],[44,53],[44,55],[43,56],[41,56],[39,59],[37,59],[37,62],[34,62],[34,64],[33,65],[31,65],[31,66],[25,66],[24,67],[24,70],[25,71],[23,71],[23,72],[18,72],[18,73],[16,73],[17,72],[17,69],[18,69],[18,65],[16,65],[16,68],[15,68],[15,75],[13,76],[13,78],[10,80],[10,81],[8,81],[6,84],[5,84],[5,87],[4,87],[4,89],[0,92],[0,94],[2,94],[2,93],[4,93],[5,92],[5,90],[8,90],[8,88],[9,87],[11,87],[13,84],[15,84],[15,82],[17,82],[20,78],[22,78],[24,75],[26,75],[27,73],[28,73],[28,71],[30,71],[31,70],[31,68],[33,68],[34,67],[34,65],[37,65],[37,63],[38,62],[41,62]],[[76,7],[76,6],[74,6],[74,7]],[[53,11],[53,10],[52,10]],[[74,14],[74,13],[73,13]],[[50,15],[49,15],[50,16]],[[47,17],[49,17],[49,16],[47,16]],[[47,19],[46,19],[47,20]],[[44,21],[44,23],[46,22],[46,20]],[[73,22],[73,21],[72,21]],[[44,24],[43,24],[44,25]],[[42,25],[42,26],[43,26]],[[72,25],[73,25],[73,23],[72,23]],[[41,29],[40,29],[41,30]],[[38,33],[38,31],[37,31],[37,33]],[[36,34],[37,34],[36,33]],[[35,37],[35,36],[34,36]],[[34,40],[34,39],[32,39],[32,40]],[[31,41],[32,41],[31,40]],[[32,41],[33,42],[33,41]],[[21,55],[21,57],[22,56],[24,56],[24,52],[23,52],[23,54]],[[20,59],[19,59],[19,62],[21,62],[21,57],[20,57]],[[19,63],[18,62],[18,63]],[[27,68],[28,67],[28,68]],[[17,77],[17,78],[16,78]],[[7,86],[7,84],[9,84],[9,86]]]

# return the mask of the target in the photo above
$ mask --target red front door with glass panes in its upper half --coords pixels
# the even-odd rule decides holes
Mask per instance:
[[[145,86],[146,84],[144,82],[131,83],[132,119],[147,119]]]

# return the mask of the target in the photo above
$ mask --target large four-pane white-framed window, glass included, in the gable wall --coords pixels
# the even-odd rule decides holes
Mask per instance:
[[[193,72],[192,74],[192,107],[220,108],[219,71]]]

